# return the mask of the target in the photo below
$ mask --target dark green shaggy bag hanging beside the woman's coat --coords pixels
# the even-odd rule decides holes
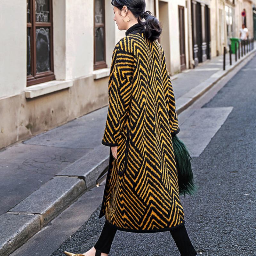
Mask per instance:
[[[180,195],[194,195],[197,191],[197,186],[194,183],[194,176],[191,168],[192,157],[188,152],[188,148],[177,137],[172,134],[172,146],[178,172],[178,184]]]

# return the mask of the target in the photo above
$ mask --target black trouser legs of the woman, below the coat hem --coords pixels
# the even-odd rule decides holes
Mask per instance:
[[[109,225],[108,222],[105,220],[105,224],[102,228],[100,237],[94,245],[94,248],[101,250],[101,252],[103,253],[109,253],[110,247],[116,235],[116,230],[117,229],[115,227]],[[180,256],[197,255],[197,252],[188,237],[185,225],[170,230],[170,233],[175,244],[178,247],[178,250],[180,251]]]

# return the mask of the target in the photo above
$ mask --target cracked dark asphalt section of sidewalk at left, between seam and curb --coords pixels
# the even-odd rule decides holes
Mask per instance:
[[[51,180],[87,149],[60,148],[23,143],[0,152],[0,215]]]

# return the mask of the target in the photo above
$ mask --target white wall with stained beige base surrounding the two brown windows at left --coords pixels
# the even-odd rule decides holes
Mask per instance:
[[[53,0],[54,83],[69,81],[71,87],[28,99],[25,90],[38,85],[26,87],[26,1],[1,1],[0,148],[108,105],[112,53],[125,36],[112,9],[105,0],[108,68],[93,71],[93,0]],[[153,0],[146,10],[154,13]],[[98,73],[101,78],[94,77]]]

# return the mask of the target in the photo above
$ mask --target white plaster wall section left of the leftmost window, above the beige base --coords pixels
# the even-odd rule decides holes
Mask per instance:
[[[27,10],[26,1],[1,0],[0,6],[0,98],[4,98],[25,88]]]

